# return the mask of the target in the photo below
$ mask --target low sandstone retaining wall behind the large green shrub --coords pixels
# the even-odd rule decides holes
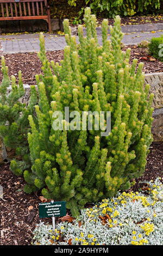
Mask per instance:
[[[163,141],[163,73],[146,74],[145,84],[151,84],[150,93],[154,94],[152,106],[153,111],[153,124],[152,134],[154,141]],[[24,85],[26,93],[21,98],[21,102],[27,103],[30,97],[30,86]],[[8,88],[10,93],[11,87]],[[5,159],[9,160],[14,156],[14,150],[5,149],[2,139],[0,140],[0,163]]]

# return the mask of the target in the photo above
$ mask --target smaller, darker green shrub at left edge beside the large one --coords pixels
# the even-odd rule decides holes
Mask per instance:
[[[20,99],[25,94],[23,88],[21,71],[19,71],[18,85],[16,78],[8,76],[8,67],[5,66],[4,57],[2,57],[2,74],[3,80],[0,86],[0,136],[3,138],[4,144],[10,149],[15,149],[21,161],[11,161],[10,168],[17,174],[21,175],[23,170],[31,167],[29,157],[29,145],[27,134],[30,131],[28,115],[34,114],[34,106],[37,103],[37,92],[34,86],[31,87],[31,96],[26,107],[25,103],[21,103]],[[11,83],[11,92],[7,93],[7,88]]]

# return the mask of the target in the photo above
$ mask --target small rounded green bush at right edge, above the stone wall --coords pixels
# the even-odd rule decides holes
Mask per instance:
[[[163,62],[163,35],[159,38],[152,38],[148,44],[149,53],[156,59]]]

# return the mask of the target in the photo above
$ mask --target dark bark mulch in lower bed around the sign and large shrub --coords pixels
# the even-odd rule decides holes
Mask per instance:
[[[139,191],[140,181],[162,178],[163,182],[163,143],[153,142],[147,156],[146,170],[143,176],[135,179],[133,191]],[[39,219],[41,193],[23,192],[25,182],[9,170],[9,163],[0,166],[0,185],[3,186],[3,199],[0,199],[0,245],[31,245],[36,223],[40,220],[52,223],[51,218]],[[86,207],[90,205],[87,204]],[[68,215],[70,212],[67,211]],[[60,221],[56,218],[56,222]]]

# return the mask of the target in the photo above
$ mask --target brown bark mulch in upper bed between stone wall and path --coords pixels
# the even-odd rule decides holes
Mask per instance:
[[[153,58],[149,55],[146,48],[139,48],[136,45],[124,46],[123,50],[131,48],[130,64],[133,59],[137,58],[138,63],[143,62],[143,71],[147,73],[163,72],[163,62]],[[47,58],[49,61],[60,63],[60,60],[64,58],[64,51],[48,51]],[[16,80],[18,79],[18,71],[22,71],[22,79],[24,84],[36,84],[35,75],[42,73],[41,62],[37,57],[36,52],[30,53],[14,53],[4,54],[5,63],[9,68],[9,76],[14,75]],[[1,64],[0,64],[1,68]],[[0,72],[0,82],[2,81],[2,73]]]

